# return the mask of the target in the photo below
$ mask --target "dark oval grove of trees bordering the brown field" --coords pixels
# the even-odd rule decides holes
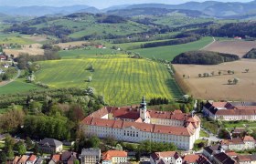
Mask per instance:
[[[209,51],[189,51],[174,58],[173,64],[219,65],[239,60],[239,56]]]

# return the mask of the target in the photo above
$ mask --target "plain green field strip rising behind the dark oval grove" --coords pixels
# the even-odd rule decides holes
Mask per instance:
[[[173,58],[180,53],[184,53],[191,50],[201,49],[213,41],[212,37],[203,37],[202,39],[191,42],[188,44],[176,45],[176,46],[159,46],[153,48],[141,48],[135,49],[133,52],[140,53],[141,56],[148,58],[162,58],[166,60],[173,60]]]

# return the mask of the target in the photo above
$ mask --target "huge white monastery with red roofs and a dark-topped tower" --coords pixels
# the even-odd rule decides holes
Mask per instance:
[[[140,107],[105,107],[84,118],[80,128],[86,136],[117,140],[171,142],[178,149],[193,149],[199,138],[200,119],[180,110],[147,110],[143,97]]]

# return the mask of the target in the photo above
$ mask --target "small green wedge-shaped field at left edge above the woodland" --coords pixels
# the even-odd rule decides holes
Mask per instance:
[[[0,87],[0,94],[14,94],[20,92],[28,92],[29,90],[39,89],[33,84],[29,84],[23,81],[23,79],[17,79],[16,81],[4,86]]]

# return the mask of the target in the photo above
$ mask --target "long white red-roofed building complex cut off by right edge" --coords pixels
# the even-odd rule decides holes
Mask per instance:
[[[205,116],[220,120],[256,120],[255,102],[213,102],[203,107]]]

